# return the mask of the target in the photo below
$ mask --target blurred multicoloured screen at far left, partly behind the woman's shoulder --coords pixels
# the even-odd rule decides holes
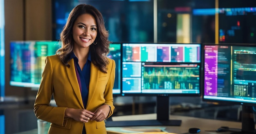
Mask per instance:
[[[54,55],[57,41],[11,41],[10,85],[38,88],[45,57]]]

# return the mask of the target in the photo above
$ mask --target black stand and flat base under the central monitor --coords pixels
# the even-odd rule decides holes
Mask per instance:
[[[157,96],[157,119],[139,121],[106,121],[106,127],[127,126],[180,126],[181,120],[169,120],[170,103],[169,96]]]

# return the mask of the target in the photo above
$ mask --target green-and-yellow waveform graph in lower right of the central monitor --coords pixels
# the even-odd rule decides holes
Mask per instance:
[[[145,93],[182,93],[200,89],[199,65],[143,65],[142,71],[142,92]]]

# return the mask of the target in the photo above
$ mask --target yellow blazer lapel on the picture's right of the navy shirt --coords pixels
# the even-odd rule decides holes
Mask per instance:
[[[99,78],[99,69],[96,66],[94,66],[93,63],[91,63],[91,74],[90,74],[88,101],[87,101],[86,108],[89,107],[91,100],[94,96],[96,86],[98,84],[98,78]]]

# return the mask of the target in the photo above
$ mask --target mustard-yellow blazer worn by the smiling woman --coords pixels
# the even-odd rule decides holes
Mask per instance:
[[[105,122],[89,121],[83,123],[73,118],[64,118],[65,109],[87,109],[94,112],[103,104],[110,105],[108,117],[113,114],[112,89],[115,81],[115,60],[108,58],[108,73],[99,71],[91,63],[90,86],[87,106],[83,106],[81,92],[76,78],[74,60],[69,61],[70,68],[61,63],[58,56],[47,56],[45,69],[34,104],[37,118],[50,122],[48,133],[81,134],[83,125],[87,134],[106,134]],[[49,105],[54,96],[57,107]]]

